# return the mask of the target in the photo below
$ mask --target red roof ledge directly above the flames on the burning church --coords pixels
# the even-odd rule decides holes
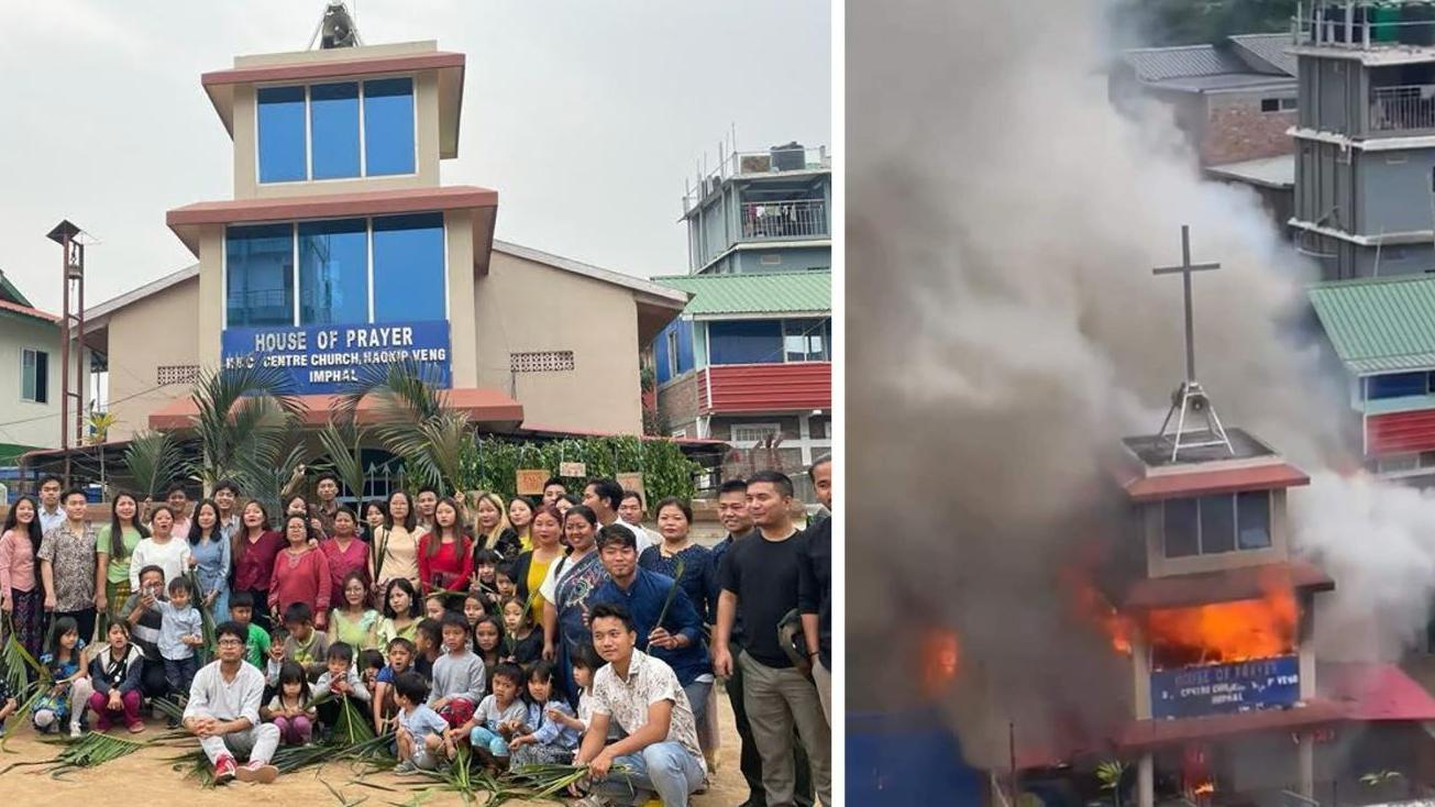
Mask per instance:
[[[1172,577],[1145,577],[1126,589],[1128,609],[1184,607],[1261,597],[1273,586],[1329,592],[1336,587],[1322,569],[1309,563],[1263,563]]]

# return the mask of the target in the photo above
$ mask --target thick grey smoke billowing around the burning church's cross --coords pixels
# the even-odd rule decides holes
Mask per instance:
[[[1200,178],[1170,112],[1112,109],[1109,23],[1098,0],[848,7],[852,708],[911,691],[888,649],[920,617],[959,626],[963,681],[1019,725],[1122,711],[1129,685],[1058,580],[1083,547],[1132,540],[1102,460],[1159,428],[1184,375],[1181,283],[1151,274],[1180,263],[1181,224],[1194,260],[1224,266],[1195,277],[1195,312],[1227,424],[1310,471],[1349,465],[1304,314],[1313,267],[1254,195]],[[1428,602],[1435,505],[1316,485],[1299,540],[1337,577],[1330,622],[1380,592],[1363,650],[1389,652]]]

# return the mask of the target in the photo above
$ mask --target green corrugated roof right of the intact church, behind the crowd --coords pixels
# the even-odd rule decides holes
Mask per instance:
[[[692,294],[683,313],[693,316],[832,310],[831,271],[673,274],[653,281]]]

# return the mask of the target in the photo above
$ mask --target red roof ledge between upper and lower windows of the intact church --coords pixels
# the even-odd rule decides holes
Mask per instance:
[[[405,188],[397,191],[360,191],[310,197],[261,198],[195,202],[165,214],[171,228],[198,224],[240,224],[247,221],[291,221],[343,215],[385,215],[498,207],[498,191],[474,185],[448,188]]]

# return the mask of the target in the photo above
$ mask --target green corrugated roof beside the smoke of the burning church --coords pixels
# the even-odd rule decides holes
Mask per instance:
[[[1310,304],[1355,375],[1435,369],[1435,277],[1319,283]]]

